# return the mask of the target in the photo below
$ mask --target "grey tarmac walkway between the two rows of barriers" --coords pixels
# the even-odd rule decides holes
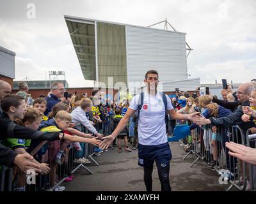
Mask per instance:
[[[192,168],[195,157],[186,155],[179,142],[171,145],[173,159],[171,161],[170,183],[173,191],[225,191],[227,186],[218,184],[218,173],[210,171],[204,161],[198,161]],[[143,168],[138,166],[138,150],[118,153],[109,149],[100,157],[94,157],[100,166],[91,163],[88,168],[93,174],[83,169],[75,173],[74,180],[65,183],[67,191],[145,191]],[[156,166],[153,171],[153,191],[161,191]]]

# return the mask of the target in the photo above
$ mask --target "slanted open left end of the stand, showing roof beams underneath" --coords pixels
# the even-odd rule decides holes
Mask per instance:
[[[95,22],[64,16],[84,79],[96,80]]]

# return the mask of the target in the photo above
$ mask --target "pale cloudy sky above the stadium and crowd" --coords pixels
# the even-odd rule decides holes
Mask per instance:
[[[35,18],[27,17],[29,3]],[[255,0],[0,0],[0,46],[16,53],[17,80],[64,70],[70,87],[93,85],[83,78],[63,15],[142,26],[168,18],[193,48],[190,78],[201,84],[256,78]]]

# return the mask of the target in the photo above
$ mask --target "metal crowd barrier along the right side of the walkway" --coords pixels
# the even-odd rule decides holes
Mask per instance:
[[[230,183],[227,191],[230,191],[232,187],[236,187],[239,191],[244,191],[246,189],[246,164],[243,161],[236,159],[236,157],[230,156],[228,154],[228,149],[225,147],[225,142],[236,142],[246,145],[244,133],[239,126],[216,128],[216,138],[212,142],[212,129],[210,126],[204,126],[202,128],[199,126],[196,127],[191,134],[192,143],[189,144],[191,148],[187,150],[188,154],[184,156],[183,160],[186,159],[189,154],[193,154],[196,159],[190,167],[192,167],[199,159],[204,160],[209,166],[213,161],[216,161],[215,168],[212,167],[212,170],[218,172],[220,179],[222,179],[221,182],[224,184],[228,184],[227,182]],[[180,143],[184,146],[184,141],[181,140]],[[214,165],[212,164],[212,166]],[[250,168],[250,171],[253,171],[253,168]],[[253,172],[255,172],[255,169]],[[255,179],[255,177],[252,178],[252,175],[253,173],[250,173],[251,184],[253,184],[252,180]],[[228,176],[229,179],[227,179]],[[225,177],[227,178],[225,179]],[[244,178],[243,183],[240,182],[240,178]]]

